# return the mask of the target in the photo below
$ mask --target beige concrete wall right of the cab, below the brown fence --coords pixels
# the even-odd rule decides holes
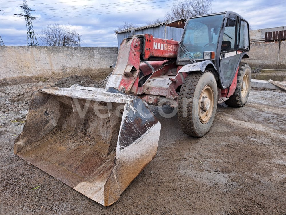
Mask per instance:
[[[251,43],[249,60],[243,60],[255,67],[264,65],[264,69],[286,69],[286,41]]]

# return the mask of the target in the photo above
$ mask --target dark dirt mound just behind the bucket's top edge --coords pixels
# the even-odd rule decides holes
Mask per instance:
[[[71,75],[57,81],[52,87],[71,87],[74,84],[79,84],[84,87],[99,87],[104,88],[106,79],[94,80],[89,75],[79,76]]]

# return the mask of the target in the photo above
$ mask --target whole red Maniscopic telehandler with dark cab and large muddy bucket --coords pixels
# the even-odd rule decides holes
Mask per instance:
[[[156,155],[161,125],[146,104],[178,108],[183,132],[204,136],[218,103],[246,103],[248,51],[249,25],[231,11],[188,19],[180,42],[130,36],[105,89],[33,93],[14,153],[108,206]]]

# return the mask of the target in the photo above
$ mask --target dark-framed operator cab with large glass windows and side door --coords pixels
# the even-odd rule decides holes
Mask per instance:
[[[177,64],[211,60],[221,88],[231,85],[241,58],[248,58],[249,25],[239,14],[227,11],[188,19]]]

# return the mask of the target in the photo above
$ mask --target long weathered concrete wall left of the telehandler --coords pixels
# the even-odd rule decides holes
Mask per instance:
[[[0,79],[92,74],[109,68],[117,47],[0,46]]]

